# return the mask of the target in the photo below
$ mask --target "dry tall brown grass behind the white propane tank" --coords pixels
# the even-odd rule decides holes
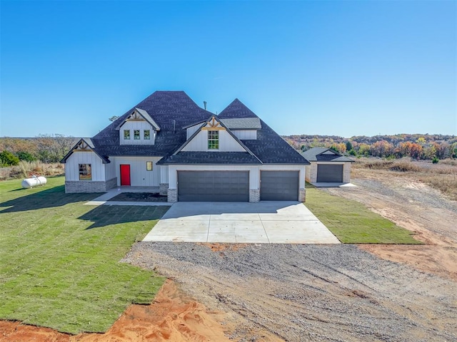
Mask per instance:
[[[21,160],[19,165],[0,168],[0,180],[11,180],[16,178],[28,178],[36,176],[56,176],[64,174],[64,165],[59,162],[45,164],[39,160],[25,162]]]

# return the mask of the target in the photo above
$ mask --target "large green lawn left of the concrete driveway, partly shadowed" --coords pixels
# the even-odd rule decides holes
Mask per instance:
[[[84,205],[97,196],[0,182],[0,319],[102,332],[154,299],[164,279],[119,260],[169,207]]]

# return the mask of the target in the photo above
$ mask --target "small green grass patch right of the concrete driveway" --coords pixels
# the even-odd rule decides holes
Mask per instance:
[[[422,244],[361,203],[306,187],[306,207],[344,244]]]

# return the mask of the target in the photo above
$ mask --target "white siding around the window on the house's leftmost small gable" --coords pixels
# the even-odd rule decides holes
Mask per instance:
[[[93,181],[105,181],[113,177],[106,177],[105,165],[95,152],[74,151],[65,162],[65,180],[79,180],[79,164],[90,164],[92,169]],[[109,165],[109,164],[108,164]],[[89,181],[84,181],[89,182]]]

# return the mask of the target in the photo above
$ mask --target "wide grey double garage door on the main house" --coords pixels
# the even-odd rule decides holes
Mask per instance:
[[[248,202],[248,171],[178,171],[178,201]]]

